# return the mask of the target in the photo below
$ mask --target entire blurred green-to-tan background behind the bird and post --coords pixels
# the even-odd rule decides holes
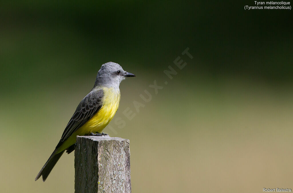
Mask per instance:
[[[132,192],[293,188],[292,11],[253,4],[1,1],[1,192],[74,192],[74,153],[34,179],[109,61],[137,75],[104,130],[130,139]]]

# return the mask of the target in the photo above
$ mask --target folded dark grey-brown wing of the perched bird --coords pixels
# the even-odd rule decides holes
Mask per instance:
[[[86,97],[84,97],[84,99],[77,106],[70,121],[68,122],[60,142],[66,140],[98,112],[98,110],[102,107],[103,96],[103,90],[99,89],[91,91],[88,93],[88,95],[86,95]]]

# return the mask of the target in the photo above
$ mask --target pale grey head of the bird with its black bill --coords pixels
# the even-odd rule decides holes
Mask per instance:
[[[126,77],[135,77],[135,75],[126,72],[117,63],[107,62],[101,66],[94,87],[105,86],[108,88],[119,88],[120,82]]]

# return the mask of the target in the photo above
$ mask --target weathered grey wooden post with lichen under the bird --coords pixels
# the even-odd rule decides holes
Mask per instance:
[[[75,193],[131,192],[129,140],[77,136]]]

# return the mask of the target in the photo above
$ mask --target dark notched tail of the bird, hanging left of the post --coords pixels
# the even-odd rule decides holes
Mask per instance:
[[[59,158],[61,157],[61,155],[64,153],[65,150],[63,150],[62,152],[58,154],[55,154],[57,151],[58,151],[58,148],[53,151],[52,155],[47,160],[47,162],[45,163],[45,165],[42,167],[41,171],[38,173],[37,177],[35,178],[35,181],[37,181],[41,176],[43,176],[43,181],[45,182],[51,170],[53,169],[53,167],[55,166],[55,164],[57,163],[57,161],[59,160]]]

